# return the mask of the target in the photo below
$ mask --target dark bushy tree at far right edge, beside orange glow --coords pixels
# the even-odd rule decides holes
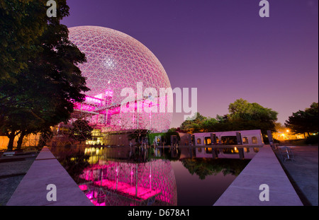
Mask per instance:
[[[318,132],[318,103],[313,103],[306,110],[298,110],[286,120],[285,126],[293,134],[308,134]]]

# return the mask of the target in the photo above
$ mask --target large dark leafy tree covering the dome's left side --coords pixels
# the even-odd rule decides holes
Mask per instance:
[[[17,134],[39,132],[67,122],[73,103],[82,102],[83,92],[89,91],[77,67],[86,62],[85,54],[69,41],[67,27],[60,24],[62,18],[69,15],[66,1],[57,0],[56,18],[48,18],[45,2],[39,2],[12,1],[11,4],[4,1],[0,4],[0,13],[5,15],[6,9],[18,8],[17,15],[4,16],[3,23],[28,23],[29,17],[38,16],[28,23],[30,30],[38,30],[35,35],[18,28],[7,34],[1,30],[0,37],[4,40],[1,47],[11,57],[3,61],[7,68],[1,72],[0,81],[0,129],[9,137],[9,151]],[[13,43],[12,35],[16,35],[19,47],[11,50],[8,45]],[[20,50],[20,47],[28,50]],[[14,60],[21,62],[21,68],[12,67]]]

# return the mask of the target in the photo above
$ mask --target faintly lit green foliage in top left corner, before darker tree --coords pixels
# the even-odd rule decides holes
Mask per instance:
[[[0,1],[0,80],[17,81],[30,57],[36,57],[35,41],[48,21],[45,10],[44,1]]]

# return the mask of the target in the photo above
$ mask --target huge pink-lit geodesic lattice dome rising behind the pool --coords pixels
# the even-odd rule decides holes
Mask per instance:
[[[86,93],[85,102],[76,103],[74,108],[91,117],[91,124],[108,130],[169,129],[172,112],[123,112],[121,108],[126,98],[121,95],[123,88],[133,88],[136,93],[138,83],[142,83],[143,89],[155,88],[158,95],[159,88],[171,88],[162,64],[147,47],[117,30],[96,26],[69,28],[69,40],[86,54],[87,62],[79,64],[79,69],[91,91]],[[130,107],[136,109],[145,101],[145,96],[137,98]]]

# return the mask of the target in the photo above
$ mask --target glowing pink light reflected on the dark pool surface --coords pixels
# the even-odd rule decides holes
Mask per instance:
[[[116,172],[116,170],[118,171]],[[103,174],[102,184],[101,174]],[[174,171],[170,163],[164,161],[152,161],[145,164],[108,161],[103,165],[94,164],[90,168],[86,168],[80,178],[93,182],[95,187],[103,187],[106,191],[117,192],[118,195],[128,197],[136,202],[155,197],[157,201],[177,205]],[[116,181],[118,182],[117,188]],[[138,187],[138,197],[136,197],[136,187]],[[113,198],[110,199],[113,201]],[[102,202],[99,199],[98,201]],[[106,203],[108,205],[108,202]]]

